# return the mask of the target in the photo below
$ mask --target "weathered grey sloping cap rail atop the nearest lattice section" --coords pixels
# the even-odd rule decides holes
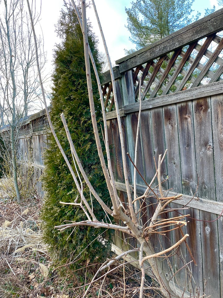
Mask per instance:
[[[116,61],[120,73],[223,29],[223,8]]]

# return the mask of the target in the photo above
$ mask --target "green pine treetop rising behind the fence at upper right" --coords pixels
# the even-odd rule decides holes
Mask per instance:
[[[128,15],[126,28],[136,49],[145,47],[197,20],[191,15],[194,0],[136,0]],[[213,12],[212,9],[208,13]]]

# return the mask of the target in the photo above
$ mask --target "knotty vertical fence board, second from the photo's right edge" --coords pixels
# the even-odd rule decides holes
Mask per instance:
[[[213,159],[211,100],[209,97],[195,100],[194,129],[197,174],[199,178],[198,194],[200,197],[215,200],[215,175]],[[207,278],[206,295],[214,297],[220,295],[219,282],[219,253],[218,253],[218,228],[215,214],[200,210],[203,253],[203,279]],[[210,238],[211,236],[211,238]],[[214,285],[214,289],[210,290]]]

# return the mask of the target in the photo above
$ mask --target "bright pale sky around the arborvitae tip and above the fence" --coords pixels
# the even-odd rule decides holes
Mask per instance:
[[[40,2],[40,0],[37,0]],[[134,45],[129,41],[129,31],[125,28],[127,24],[127,15],[125,7],[131,7],[132,0],[95,0],[98,15],[102,24],[103,32],[106,38],[106,43],[112,63],[125,56],[124,49],[134,48]],[[211,8],[213,5],[216,9],[217,0],[195,0],[192,8],[194,14],[197,11],[204,15],[205,8]],[[44,36],[44,48],[47,52],[47,69],[52,70],[53,49],[55,44],[59,43],[59,39],[55,33],[55,24],[57,23],[60,10],[63,8],[63,0],[42,0],[42,12],[40,24],[42,26]],[[87,17],[93,26],[93,31],[99,40],[99,51],[104,52],[103,43],[100,38],[100,32],[93,8],[88,9]]]

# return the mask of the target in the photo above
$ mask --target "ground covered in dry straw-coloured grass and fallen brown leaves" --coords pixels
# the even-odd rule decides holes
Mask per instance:
[[[70,278],[52,272],[52,259],[42,241],[41,202],[35,198],[20,205],[9,198],[0,199],[0,298],[51,297],[79,298],[83,287],[74,289]],[[140,273],[129,264],[116,268],[95,282],[88,297],[139,297]],[[144,297],[162,298],[145,284]],[[101,290],[100,290],[101,289]],[[100,293],[99,293],[100,292]]]

